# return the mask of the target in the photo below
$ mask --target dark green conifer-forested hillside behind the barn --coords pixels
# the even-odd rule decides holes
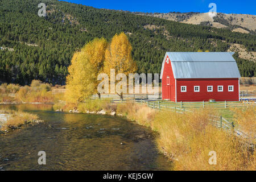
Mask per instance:
[[[38,3],[47,16],[38,16]],[[129,12],[59,1],[0,1],[0,81],[30,84],[39,79],[65,84],[73,53],[98,37],[125,32],[138,73],[160,73],[166,51],[227,51],[230,43],[256,51],[256,36],[184,24]],[[256,75],[256,63],[236,53],[241,76]]]

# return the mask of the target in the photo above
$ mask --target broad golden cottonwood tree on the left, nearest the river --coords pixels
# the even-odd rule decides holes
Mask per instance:
[[[65,100],[81,102],[97,92],[97,76],[103,70],[107,46],[104,38],[96,38],[73,55],[68,67]]]

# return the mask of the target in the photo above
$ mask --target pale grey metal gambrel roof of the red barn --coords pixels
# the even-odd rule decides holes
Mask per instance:
[[[234,52],[167,52],[174,78],[240,78]]]

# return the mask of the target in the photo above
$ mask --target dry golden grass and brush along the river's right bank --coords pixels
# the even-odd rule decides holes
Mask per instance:
[[[126,115],[128,119],[157,131],[159,151],[174,160],[175,170],[256,169],[255,152],[242,144],[240,138],[210,125],[209,114],[216,115],[214,110],[177,114],[127,103],[118,105],[117,114]],[[255,127],[255,123],[253,125]],[[209,164],[210,151],[217,153],[216,165]]]

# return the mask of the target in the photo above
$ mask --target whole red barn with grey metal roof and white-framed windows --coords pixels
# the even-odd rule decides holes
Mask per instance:
[[[233,52],[167,52],[162,100],[239,101],[240,73]]]

